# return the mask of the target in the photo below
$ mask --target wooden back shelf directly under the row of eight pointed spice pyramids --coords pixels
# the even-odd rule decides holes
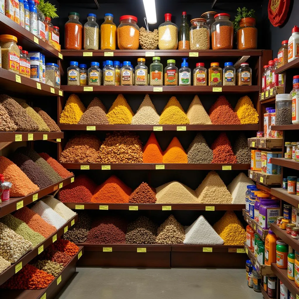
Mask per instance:
[[[87,126],[95,126],[96,131],[153,131],[154,127],[162,127],[163,131],[178,131],[185,127],[186,131],[256,131],[259,125],[71,125],[60,123],[59,127],[63,131],[77,130],[86,131]],[[184,128],[183,128],[184,129]]]

